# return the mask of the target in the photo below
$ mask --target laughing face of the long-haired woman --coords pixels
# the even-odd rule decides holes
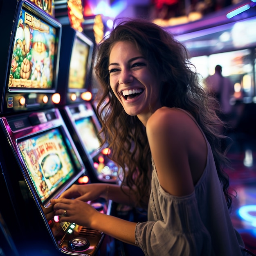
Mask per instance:
[[[152,114],[150,109],[154,112],[161,107],[161,81],[150,72],[150,63],[135,43],[115,43],[110,51],[109,63],[110,86],[128,115],[145,119]]]

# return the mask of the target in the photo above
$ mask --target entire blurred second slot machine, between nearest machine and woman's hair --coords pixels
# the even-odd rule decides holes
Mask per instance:
[[[88,36],[63,26],[57,89],[60,111],[93,182],[116,183],[118,167],[108,158],[108,145],[100,147],[101,125],[90,102],[93,47]]]

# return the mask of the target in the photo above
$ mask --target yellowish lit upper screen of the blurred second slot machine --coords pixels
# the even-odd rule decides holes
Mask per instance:
[[[70,60],[68,87],[83,89],[85,85],[89,46],[75,38]]]

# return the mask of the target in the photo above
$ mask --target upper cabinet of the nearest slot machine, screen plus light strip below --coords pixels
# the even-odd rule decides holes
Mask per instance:
[[[27,0],[4,0],[0,22],[0,115],[53,107],[61,23]]]

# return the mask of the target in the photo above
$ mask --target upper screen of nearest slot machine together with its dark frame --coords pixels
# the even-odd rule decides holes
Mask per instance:
[[[61,25],[27,1],[16,20],[7,71],[9,91],[54,90]]]

